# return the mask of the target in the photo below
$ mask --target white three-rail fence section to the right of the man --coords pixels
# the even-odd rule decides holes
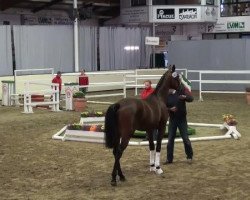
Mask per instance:
[[[203,101],[202,93],[228,93],[228,94],[242,94],[244,91],[221,91],[221,90],[203,90],[202,86],[204,84],[250,84],[250,80],[219,80],[219,79],[209,79],[204,77],[208,74],[233,74],[233,75],[250,75],[250,70],[188,70],[188,75],[190,73],[198,73],[199,79],[189,80],[191,82],[197,82],[199,84],[199,100]]]

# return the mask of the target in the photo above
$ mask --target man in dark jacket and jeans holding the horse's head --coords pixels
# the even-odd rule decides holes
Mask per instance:
[[[191,163],[193,158],[193,149],[191,142],[188,138],[188,127],[187,127],[187,110],[186,102],[192,102],[193,97],[183,85],[176,91],[173,89],[169,90],[167,97],[167,107],[169,109],[169,126],[168,126],[168,145],[167,145],[167,160],[165,164],[173,162],[174,154],[174,140],[176,137],[177,128],[180,131],[187,160]]]

